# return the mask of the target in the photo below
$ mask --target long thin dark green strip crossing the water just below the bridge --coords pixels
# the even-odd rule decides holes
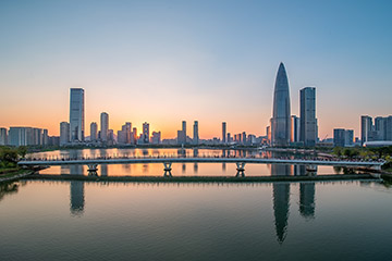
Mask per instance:
[[[23,179],[81,181],[81,182],[121,182],[121,183],[270,183],[270,182],[323,182],[378,179],[371,174],[342,174],[318,176],[85,176],[32,174]]]

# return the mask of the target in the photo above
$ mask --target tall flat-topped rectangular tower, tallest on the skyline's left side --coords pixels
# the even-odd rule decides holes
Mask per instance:
[[[70,95],[70,135],[71,141],[84,141],[84,89],[71,88]]]

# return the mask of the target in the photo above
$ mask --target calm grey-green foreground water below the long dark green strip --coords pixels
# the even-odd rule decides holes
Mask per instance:
[[[267,170],[293,174],[292,166]],[[0,186],[0,253],[1,260],[389,260],[391,217],[392,188],[379,182],[21,181]]]

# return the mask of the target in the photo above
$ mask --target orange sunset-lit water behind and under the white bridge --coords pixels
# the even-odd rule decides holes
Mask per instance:
[[[265,152],[259,150],[207,150],[207,149],[84,149],[84,150],[62,150],[34,153],[32,158],[48,158],[48,159],[61,159],[61,158],[96,158],[96,157],[157,157],[157,156],[236,156],[236,157],[279,157],[280,154],[272,154],[271,152]],[[236,174],[235,163],[173,163],[172,175],[173,176],[235,176]],[[71,165],[71,166],[51,166],[41,174],[83,174],[87,175],[86,165]],[[246,164],[245,174],[247,176],[269,176],[271,175],[270,164]],[[286,173],[289,172],[289,173]],[[332,166],[318,166],[318,174],[336,174],[342,173],[341,169],[333,169]],[[305,166],[290,166],[290,170],[284,170],[284,175],[305,175]],[[98,165],[98,175],[103,176],[162,176],[163,164],[109,164]]]

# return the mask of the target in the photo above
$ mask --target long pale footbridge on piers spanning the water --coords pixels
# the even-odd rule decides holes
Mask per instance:
[[[25,159],[17,164],[21,166],[54,166],[54,165],[87,165],[88,174],[97,175],[99,164],[163,164],[164,176],[172,176],[173,163],[235,163],[236,176],[245,176],[245,164],[294,164],[307,165],[309,170],[316,170],[317,165],[366,167],[381,170],[384,161],[351,161],[327,159],[280,159],[280,158],[236,158],[236,157],[122,157],[122,158],[81,158],[81,159]]]

